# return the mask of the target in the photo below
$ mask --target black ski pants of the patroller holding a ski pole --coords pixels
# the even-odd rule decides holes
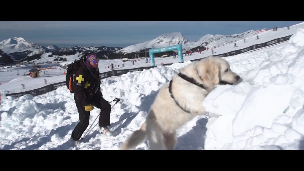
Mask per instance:
[[[71,137],[77,141],[81,138],[81,135],[85,132],[90,121],[90,112],[85,111],[85,107],[78,101],[75,100],[77,110],[79,113],[79,122],[74,128]],[[92,100],[93,106],[100,109],[99,123],[100,127],[110,126],[110,113],[111,105],[102,97],[94,97]]]

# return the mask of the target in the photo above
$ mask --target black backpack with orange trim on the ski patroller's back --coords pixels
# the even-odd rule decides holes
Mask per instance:
[[[67,89],[70,90],[71,93],[74,93],[74,85],[73,85],[73,75],[78,71],[80,66],[81,59],[72,62],[67,66],[67,74],[65,75],[65,83],[67,85]]]

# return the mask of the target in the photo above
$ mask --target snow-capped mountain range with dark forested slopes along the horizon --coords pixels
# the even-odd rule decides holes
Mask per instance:
[[[153,40],[149,40],[143,43],[134,44],[125,48],[122,47],[58,47],[56,45],[49,45],[47,47],[39,46],[35,43],[30,43],[24,40],[22,37],[9,38],[0,42],[0,63],[2,65],[12,63],[25,63],[39,60],[43,54],[47,54],[49,57],[56,56],[58,59],[53,59],[54,62],[64,60],[63,56],[79,54],[82,56],[85,52],[94,51],[98,53],[101,59],[109,58],[133,58],[136,53],[138,57],[143,57],[140,52],[147,51],[152,48],[173,46],[175,44],[181,44],[183,51],[195,51],[196,48],[205,49],[205,47],[213,47],[229,44],[233,41],[238,41],[246,37],[250,37],[255,33],[254,30],[249,30],[240,34],[233,35],[211,35],[207,34],[195,42],[187,40],[181,32],[164,33]],[[130,55],[132,54],[132,55]],[[44,55],[45,56],[45,55]],[[4,64],[3,64],[4,63]]]

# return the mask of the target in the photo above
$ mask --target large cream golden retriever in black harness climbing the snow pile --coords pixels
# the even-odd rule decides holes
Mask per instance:
[[[151,150],[174,150],[176,130],[206,110],[202,101],[219,84],[234,84],[240,76],[228,62],[208,57],[179,69],[159,90],[146,121],[122,144],[121,150],[134,149],[147,137]]]

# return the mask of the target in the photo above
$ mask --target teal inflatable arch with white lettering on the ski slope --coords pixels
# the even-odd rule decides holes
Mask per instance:
[[[179,58],[179,62],[184,62],[183,53],[181,51],[181,44],[178,44],[178,45],[174,45],[174,46],[161,47],[161,48],[156,48],[156,49],[149,49],[149,57],[150,57],[150,61],[151,61],[151,67],[155,66],[154,54],[160,53],[160,52],[173,51],[173,50],[177,50],[177,56]]]

